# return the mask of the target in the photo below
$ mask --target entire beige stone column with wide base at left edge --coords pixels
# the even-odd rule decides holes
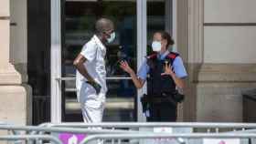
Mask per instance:
[[[31,90],[10,63],[10,0],[0,5],[0,121],[31,123]]]

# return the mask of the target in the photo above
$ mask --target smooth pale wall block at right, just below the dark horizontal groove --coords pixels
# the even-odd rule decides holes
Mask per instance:
[[[205,26],[205,63],[256,63],[256,26]]]

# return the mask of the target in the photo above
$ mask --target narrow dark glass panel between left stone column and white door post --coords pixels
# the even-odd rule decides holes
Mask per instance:
[[[50,120],[50,1],[27,0],[27,75],[33,125]]]

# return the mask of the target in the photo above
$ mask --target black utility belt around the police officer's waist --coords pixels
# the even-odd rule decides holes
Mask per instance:
[[[152,104],[170,103],[176,107],[177,103],[181,103],[183,100],[184,95],[179,94],[177,91],[172,94],[161,93],[160,96],[144,94],[141,98],[143,112],[145,112],[145,110],[148,109]]]

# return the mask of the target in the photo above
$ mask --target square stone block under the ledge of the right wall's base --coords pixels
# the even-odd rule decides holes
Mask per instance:
[[[197,121],[242,122],[242,91],[250,83],[203,83],[197,85]]]

